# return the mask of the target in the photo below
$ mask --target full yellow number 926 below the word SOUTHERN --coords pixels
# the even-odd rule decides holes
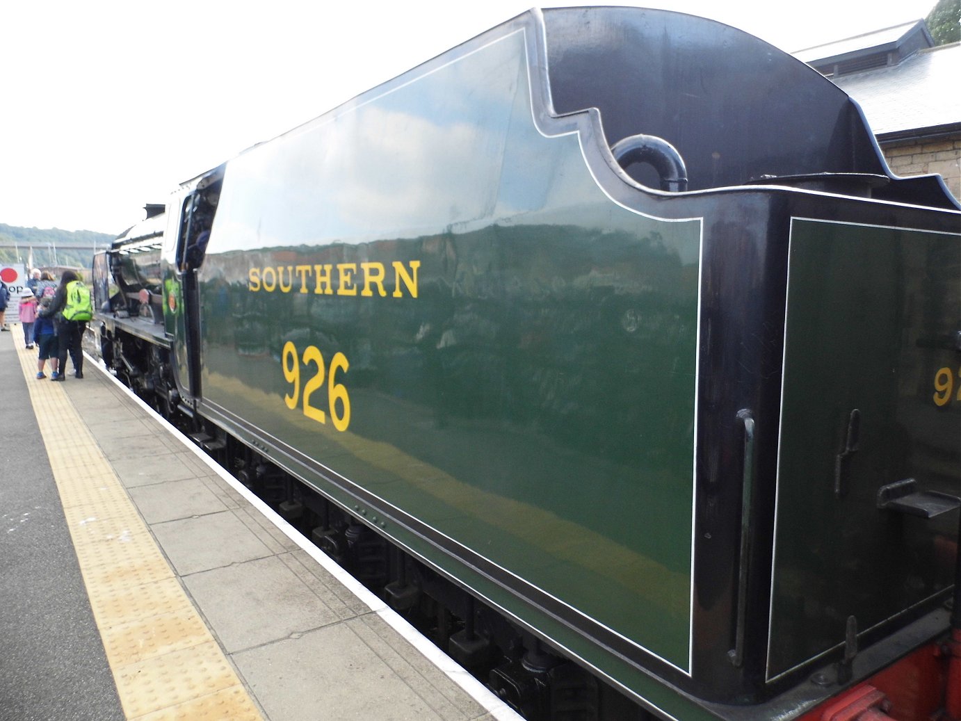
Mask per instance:
[[[333,427],[338,431],[346,431],[351,424],[351,398],[347,394],[347,387],[337,383],[337,371],[347,372],[350,363],[343,353],[333,354],[330,366],[324,362],[324,356],[315,345],[308,345],[303,355],[298,353],[297,346],[288,340],[283,344],[283,377],[292,385],[290,393],[283,396],[287,408],[294,410],[301,401],[301,363],[313,365],[314,373],[303,387],[304,415],[318,423],[327,423],[328,413],[313,406],[310,398],[313,393],[324,385],[327,377],[327,410],[331,415]]]

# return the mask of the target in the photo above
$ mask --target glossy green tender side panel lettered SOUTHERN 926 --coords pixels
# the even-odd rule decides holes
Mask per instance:
[[[538,133],[525,52],[461,49],[229,165],[205,403],[689,673],[700,223],[612,204]]]

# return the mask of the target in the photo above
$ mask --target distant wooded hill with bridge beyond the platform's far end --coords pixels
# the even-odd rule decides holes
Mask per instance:
[[[112,233],[62,231],[57,228],[20,228],[0,223],[0,262],[29,264],[34,252],[34,266],[68,265],[88,268],[95,250],[107,248]]]

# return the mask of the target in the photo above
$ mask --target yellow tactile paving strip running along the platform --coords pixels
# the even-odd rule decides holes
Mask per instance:
[[[20,326],[13,329],[124,714],[131,721],[261,719],[66,389],[37,381],[37,351],[23,347]]]

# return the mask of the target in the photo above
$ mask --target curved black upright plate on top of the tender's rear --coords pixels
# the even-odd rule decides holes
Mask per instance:
[[[772,176],[890,176],[847,93],[757,37],[635,8],[546,10],[544,20],[554,110],[599,109],[610,145],[641,133],[666,139],[687,166],[688,189]],[[922,185],[943,194],[936,182]],[[918,195],[916,187],[886,192],[908,202]]]

